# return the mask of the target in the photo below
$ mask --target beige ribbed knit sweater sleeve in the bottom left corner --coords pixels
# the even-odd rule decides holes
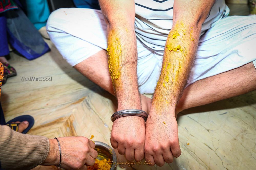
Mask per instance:
[[[0,126],[0,163],[2,169],[32,169],[48,156],[49,140],[43,136],[25,135]]]

